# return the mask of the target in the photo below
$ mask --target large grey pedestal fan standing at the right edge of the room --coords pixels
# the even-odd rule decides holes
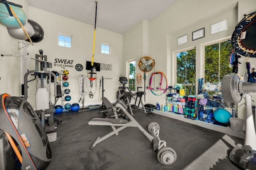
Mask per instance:
[[[246,105],[246,135],[244,146],[236,145],[231,150],[229,158],[243,169],[256,169],[256,133],[252,116],[252,100],[249,93],[256,93],[256,83],[243,82],[236,74],[226,75],[221,82],[224,101],[239,103],[242,96]]]

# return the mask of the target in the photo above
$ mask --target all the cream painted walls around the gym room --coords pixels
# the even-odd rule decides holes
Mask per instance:
[[[38,50],[43,49],[44,55],[48,56],[48,61],[54,62],[55,59],[73,60],[73,66],[77,63],[83,64],[91,60],[92,43],[93,43],[93,25],[84,24],[78,21],[70,20],[56,14],[45,12],[33,7],[29,7],[27,0],[14,0],[17,4],[23,5],[23,9],[28,14],[28,19],[39,23],[45,32],[44,40],[34,43],[28,48],[29,57],[39,54]],[[168,78],[168,85],[174,85],[174,59],[173,52],[188,48],[196,47],[200,49],[201,44],[214,41],[222,37],[231,36],[234,25],[243,18],[244,14],[255,11],[255,0],[216,0],[214,3],[210,0],[180,0],[167,10],[159,14],[150,21],[142,20],[124,35],[120,35],[111,31],[96,28],[96,45],[94,62],[112,64],[112,71],[101,71],[98,78],[104,76],[104,96],[109,98],[111,102],[116,99],[116,90],[119,84],[119,76],[126,75],[126,61],[136,59],[136,63],[141,57],[148,55],[156,61],[153,71],[146,74],[146,86],[149,84],[149,78],[152,72],[162,71]],[[209,27],[211,23],[228,18],[228,31],[209,35]],[[196,41],[191,40],[192,31],[205,27],[205,37]],[[66,33],[73,36],[73,45],[71,49],[59,47],[57,45],[57,33]],[[176,39],[181,35],[188,33],[189,42],[187,44],[177,46]],[[20,40],[11,37],[5,26],[0,24],[0,42],[1,54],[21,54],[18,50],[18,42]],[[100,43],[109,43],[112,47],[111,55],[100,53]],[[201,51],[197,50],[197,57],[200,58]],[[198,58],[197,58],[198,60]],[[250,59],[254,62],[254,59]],[[0,57],[1,72],[6,74],[0,75],[0,93],[9,93],[12,96],[20,96],[20,84],[22,77],[20,76],[20,58],[18,57]],[[197,61],[198,62],[198,61]],[[199,60],[199,63],[202,62]],[[242,65],[242,64],[240,64]],[[29,60],[28,69],[34,70],[35,62]],[[78,102],[79,85],[78,79],[81,74],[88,76],[87,71],[77,72],[74,67],[66,68],[70,71],[70,103]],[[58,66],[53,66],[52,70],[60,72],[63,70]],[[138,66],[136,70],[140,72]],[[239,66],[244,72],[243,66]],[[202,70],[196,70],[196,79],[201,78]],[[73,77],[73,78],[72,78]],[[29,77],[28,80],[32,79]],[[99,80],[97,80],[99,83]],[[120,85],[120,84],[119,84]],[[35,82],[29,83],[28,101],[34,106],[35,104]],[[95,89],[92,90],[93,92]],[[98,94],[101,95],[101,89],[96,92],[94,98],[90,99],[86,95],[86,104],[100,104]],[[146,103],[165,104],[165,96],[154,96],[149,90],[146,90]],[[52,93],[53,94],[53,93]],[[53,97],[52,97],[53,98]],[[60,101],[58,102],[60,103]]]

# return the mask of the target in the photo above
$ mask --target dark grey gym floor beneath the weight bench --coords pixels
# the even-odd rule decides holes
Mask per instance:
[[[239,170],[228,154],[243,139],[140,109],[133,109],[136,121],[145,130],[151,122],[160,125],[159,137],[176,151],[176,162],[158,162],[152,143],[137,127],[128,127],[90,150],[97,137],[112,131],[110,126],[88,125],[93,118],[105,117],[98,111],[55,115],[62,123],[56,125],[57,139],[51,142],[53,158],[47,170]]]

